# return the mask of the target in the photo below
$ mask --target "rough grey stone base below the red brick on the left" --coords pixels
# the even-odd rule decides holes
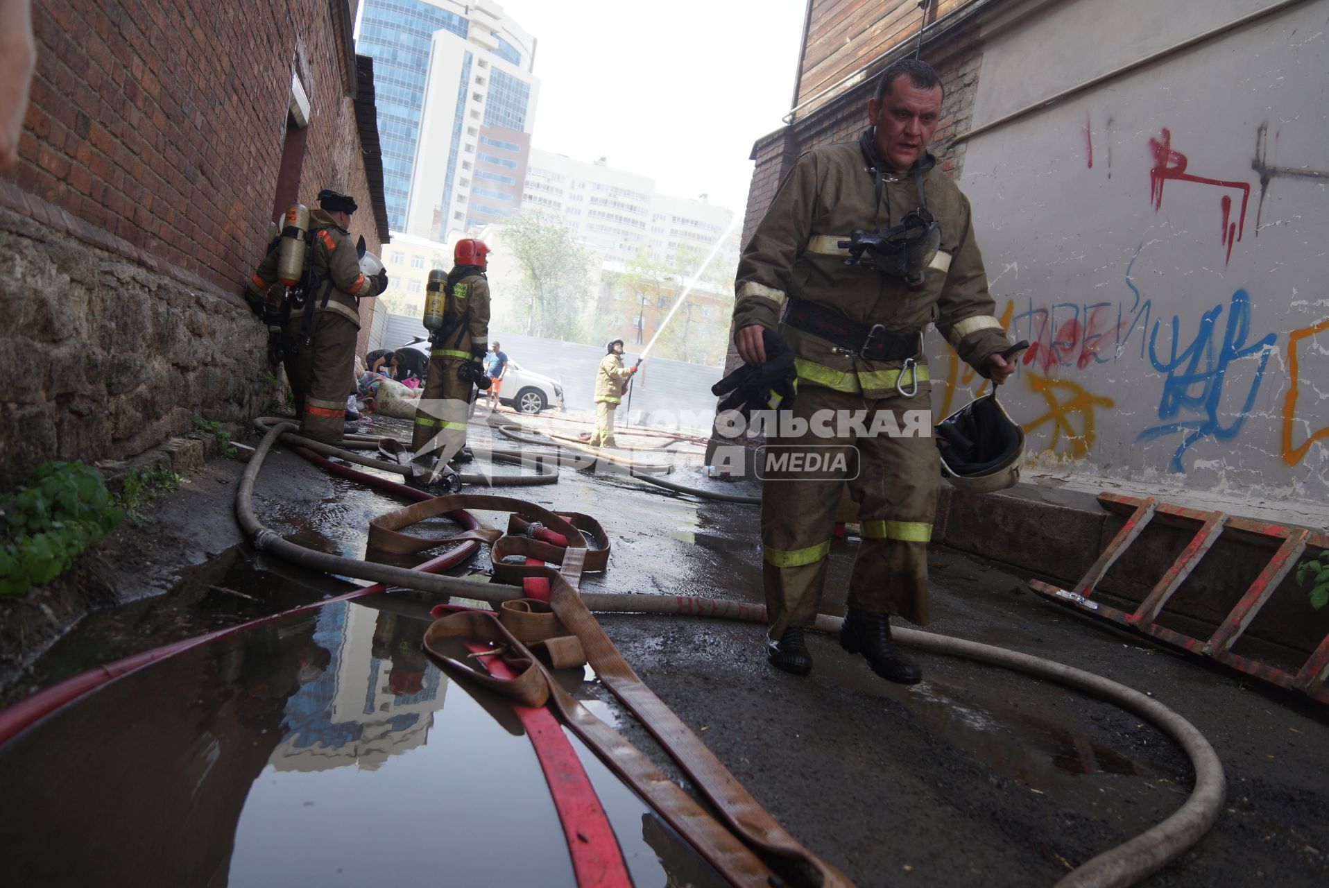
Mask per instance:
[[[43,461],[126,459],[243,420],[271,387],[234,299],[0,209],[0,489]]]

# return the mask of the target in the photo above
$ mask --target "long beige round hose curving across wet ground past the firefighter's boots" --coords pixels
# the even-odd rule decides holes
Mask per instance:
[[[254,541],[255,546],[306,568],[347,577],[373,580],[408,589],[459,596],[494,605],[522,597],[521,589],[516,586],[504,588],[486,582],[440,577],[419,570],[407,570],[315,552],[283,540],[275,532],[264,528],[253,510],[254,483],[263,467],[264,457],[278,436],[288,433],[294,428],[290,423],[268,428],[241,479],[235,496],[235,514],[245,533]],[[299,443],[303,445],[303,440]],[[328,449],[338,451],[338,448]],[[339,451],[335,455],[351,459],[351,455],[346,451]],[[372,460],[372,463],[377,464],[379,461]],[[587,593],[582,596],[582,601],[590,610],[601,613],[695,615],[743,619],[758,623],[766,622],[764,608],[714,598]],[[841,618],[839,617],[819,614],[813,629],[837,631],[840,622]],[[897,629],[896,637],[901,643],[917,650],[1003,666],[1026,675],[1046,678],[1100,697],[1151,721],[1175,739],[1191,759],[1191,764],[1195,768],[1195,788],[1180,808],[1162,823],[1130,841],[1080,864],[1057,883],[1059,887],[1123,888],[1124,885],[1135,884],[1199,841],[1217,819],[1227,794],[1223,764],[1213,747],[1204,739],[1200,731],[1163,703],[1102,675],[993,645],[913,629]]]

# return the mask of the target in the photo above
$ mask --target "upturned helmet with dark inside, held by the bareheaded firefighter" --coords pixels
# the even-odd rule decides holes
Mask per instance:
[[[941,473],[965,493],[1015,487],[1025,455],[1022,429],[997,401],[995,389],[937,423]]]

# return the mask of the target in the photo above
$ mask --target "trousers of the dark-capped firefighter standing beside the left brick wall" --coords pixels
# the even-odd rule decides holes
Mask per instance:
[[[335,311],[314,314],[312,342],[303,343],[304,318],[291,318],[286,336],[286,379],[295,395],[300,435],[338,444],[346,433],[346,399],[355,391],[355,340],[360,330]]]

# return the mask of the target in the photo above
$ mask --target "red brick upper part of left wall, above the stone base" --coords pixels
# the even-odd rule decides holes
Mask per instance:
[[[346,0],[36,0],[37,70],[8,178],[238,294],[266,242],[292,68],[312,105],[300,198],[363,177],[351,16]],[[376,245],[365,215],[356,234]]]

